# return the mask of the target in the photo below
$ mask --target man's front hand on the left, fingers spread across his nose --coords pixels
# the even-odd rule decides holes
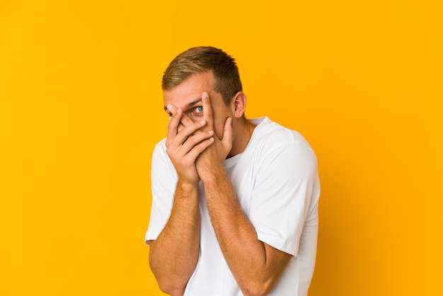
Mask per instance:
[[[172,117],[168,123],[166,137],[166,153],[171,159],[178,178],[183,182],[197,184],[200,181],[195,160],[214,142],[214,130],[197,132],[206,125],[206,121],[193,122],[183,110],[175,106],[168,106]]]

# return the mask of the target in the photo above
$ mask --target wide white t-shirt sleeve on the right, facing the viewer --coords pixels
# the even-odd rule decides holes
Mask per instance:
[[[297,256],[306,218],[319,195],[316,156],[306,142],[262,155],[248,211],[260,241]]]

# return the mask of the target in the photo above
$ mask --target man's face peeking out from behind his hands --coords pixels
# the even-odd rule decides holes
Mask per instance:
[[[214,75],[212,72],[193,74],[188,80],[175,88],[163,91],[165,110],[168,104],[172,104],[183,110],[193,121],[203,120],[202,93],[207,92],[214,113],[214,132],[222,139],[226,118],[233,116],[231,106],[226,106],[222,95],[214,91]]]

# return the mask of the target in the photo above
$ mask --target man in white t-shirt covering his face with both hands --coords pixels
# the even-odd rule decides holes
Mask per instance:
[[[299,133],[247,120],[236,62],[193,47],[166,69],[154,149],[149,264],[164,292],[306,295],[316,258],[316,156]],[[290,112],[290,110],[287,110]]]

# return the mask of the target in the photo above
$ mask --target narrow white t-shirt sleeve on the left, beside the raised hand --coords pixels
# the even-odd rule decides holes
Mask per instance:
[[[177,183],[177,173],[166,154],[164,141],[154,148],[151,163],[152,203],[149,227],[145,235],[146,244],[157,239],[168,222]]]

